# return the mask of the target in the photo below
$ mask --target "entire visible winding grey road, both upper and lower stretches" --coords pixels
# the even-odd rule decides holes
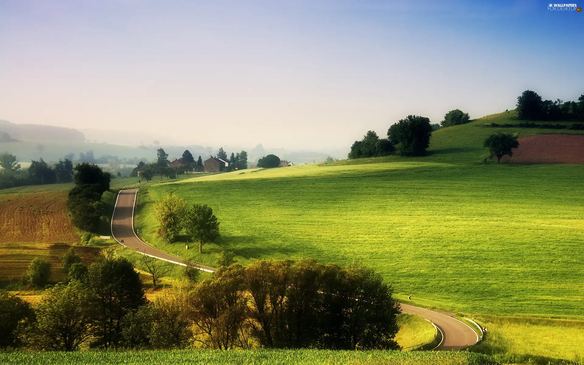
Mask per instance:
[[[142,255],[186,266],[182,259],[159,251],[138,238],[134,231],[134,207],[137,194],[138,189],[120,190],[112,215],[113,238],[119,244]],[[199,265],[199,269],[206,272],[215,271],[213,267],[204,265]],[[477,333],[470,326],[450,315],[409,304],[401,306],[402,312],[428,319],[442,332],[442,342],[433,350],[461,350],[474,345],[479,340]]]

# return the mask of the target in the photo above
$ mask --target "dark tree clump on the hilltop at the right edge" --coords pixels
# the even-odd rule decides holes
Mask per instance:
[[[517,117],[522,120],[584,121],[584,94],[578,102],[543,100],[538,93],[526,90],[517,97]]]

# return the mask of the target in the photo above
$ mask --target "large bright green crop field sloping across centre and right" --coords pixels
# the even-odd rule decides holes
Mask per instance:
[[[583,188],[578,165],[303,165],[151,186],[136,227],[206,265],[223,249],[241,263],[363,260],[425,307],[583,318]],[[158,238],[153,203],[168,193],[221,222],[203,256]]]

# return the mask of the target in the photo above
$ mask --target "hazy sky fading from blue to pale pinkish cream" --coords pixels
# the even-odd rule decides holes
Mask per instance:
[[[0,0],[0,119],[163,143],[349,147],[408,114],[513,109],[525,89],[578,99],[584,12],[547,7]]]

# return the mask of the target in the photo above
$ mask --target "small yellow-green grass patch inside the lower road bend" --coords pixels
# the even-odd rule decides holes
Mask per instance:
[[[420,345],[432,342],[436,335],[434,326],[416,315],[398,314],[398,324],[399,332],[395,340],[406,351],[416,350]]]

